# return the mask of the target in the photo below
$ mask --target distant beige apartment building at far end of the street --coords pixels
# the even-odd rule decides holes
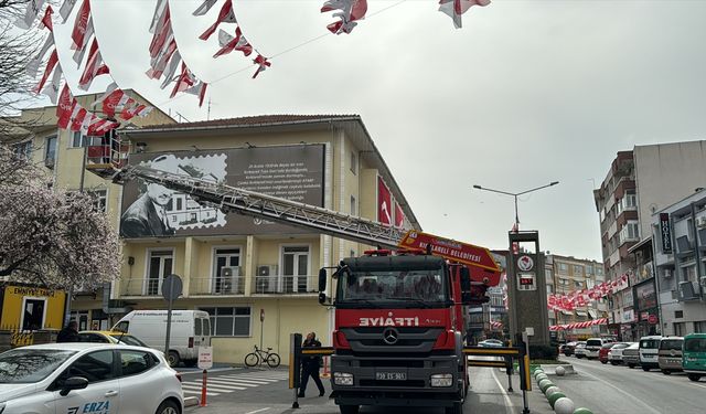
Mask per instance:
[[[592,259],[580,259],[573,256],[547,254],[545,262],[545,277],[547,294],[569,295],[582,289],[592,289],[606,282],[602,265]],[[550,280],[550,282],[549,282]],[[552,291],[549,291],[552,289]],[[574,310],[549,310],[549,326],[586,322],[606,318],[608,306],[606,299],[589,301],[586,306],[578,306]],[[558,340],[577,340],[607,333],[605,326],[557,331]],[[555,333],[555,332],[552,332]]]

